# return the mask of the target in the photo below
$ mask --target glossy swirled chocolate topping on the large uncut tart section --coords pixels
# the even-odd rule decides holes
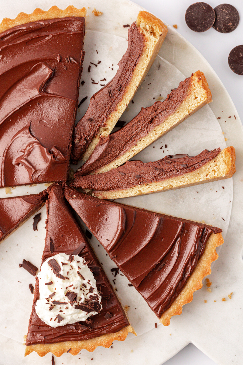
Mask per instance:
[[[0,187],[66,180],[85,18],[0,34]]]

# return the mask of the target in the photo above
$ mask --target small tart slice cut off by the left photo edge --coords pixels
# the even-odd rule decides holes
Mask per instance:
[[[47,191],[39,194],[0,199],[0,242],[38,212],[47,199]]]

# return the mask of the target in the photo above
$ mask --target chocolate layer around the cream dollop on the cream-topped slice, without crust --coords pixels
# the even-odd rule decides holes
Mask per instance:
[[[26,345],[36,343],[57,343],[63,341],[82,341],[115,333],[129,325],[128,319],[115,293],[92,251],[81,228],[65,201],[61,185],[52,185],[49,190],[47,205],[47,233],[42,263],[58,253],[79,255],[85,258],[88,267],[94,274],[96,286],[102,295],[102,310],[99,314],[88,318],[86,322],[76,322],[60,327],[45,324],[35,312],[35,304],[39,299],[39,282],[36,278],[35,296],[29,322]],[[71,258],[70,258],[71,260]],[[67,287],[68,287],[67,280]],[[51,303],[51,302],[50,302]],[[65,305],[63,305],[65,308]],[[87,311],[89,310],[87,306]],[[109,313],[109,315],[107,315]],[[60,313],[61,315],[62,313]]]

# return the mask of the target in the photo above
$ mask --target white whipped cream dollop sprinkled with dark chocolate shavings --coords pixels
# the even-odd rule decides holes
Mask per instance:
[[[51,327],[85,321],[102,309],[95,278],[82,257],[65,253],[50,257],[38,279],[40,299],[35,311]]]

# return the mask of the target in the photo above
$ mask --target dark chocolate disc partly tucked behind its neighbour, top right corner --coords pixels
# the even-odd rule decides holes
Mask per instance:
[[[216,19],[213,28],[220,33],[230,33],[238,26],[240,15],[230,4],[220,4],[214,8]]]

